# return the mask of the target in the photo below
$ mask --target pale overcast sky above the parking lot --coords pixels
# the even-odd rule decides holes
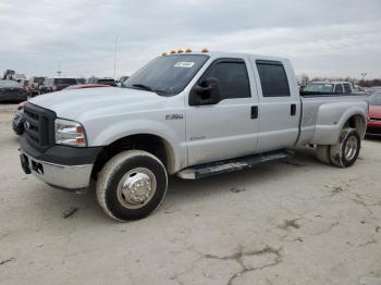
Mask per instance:
[[[204,47],[291,59],[296,73],[381,78],[381,0],[1,0],[0,73],[131,75]]]

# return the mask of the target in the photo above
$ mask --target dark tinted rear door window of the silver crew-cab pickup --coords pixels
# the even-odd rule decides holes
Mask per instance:
[[[286,72],[281,62],[256,61],[263,97],[287,97],[290,86]]]

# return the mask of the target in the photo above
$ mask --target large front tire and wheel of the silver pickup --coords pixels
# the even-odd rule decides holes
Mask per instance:
[[[105,164],[98,175],[96,193],[107,215],[126,222],[155,211],[167,187],[167,171],[157,157],[142,150],[127,150]]]

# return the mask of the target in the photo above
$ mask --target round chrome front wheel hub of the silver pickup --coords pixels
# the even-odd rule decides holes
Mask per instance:
[[[142,208],[153,196],[156,177],[146,168],[137,168],[123,175],[118,185],[118,199],[128,209]]]

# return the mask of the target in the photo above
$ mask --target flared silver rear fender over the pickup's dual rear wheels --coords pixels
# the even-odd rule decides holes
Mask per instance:
[[[344,125],[353,116],[360,116],[364,124],[367,122],[367,102],[334,102],[322,104],[318,111],[315,135],[311,144],[334,145],[339,142]],[[361,127],[365,132],[366,125]],[[361,136],[364,134],[360,134]]]

